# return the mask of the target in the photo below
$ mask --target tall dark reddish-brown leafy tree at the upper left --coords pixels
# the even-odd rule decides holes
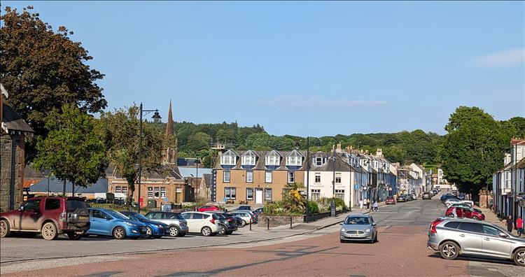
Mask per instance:
[[[43,22],[32,7],[21,13],[6,7],[1,15],[0,78],[10,92],[8,103],[34,129],[47,136],[45,115],[64,104],[73,104],[87,113],[102,111],[107,102],[97,80],[102,73],[86,64],[92,59],[80,42],[71,41],[72,31],[60,26],[56,31]],[[27,144],[28,161],[34,144]]]

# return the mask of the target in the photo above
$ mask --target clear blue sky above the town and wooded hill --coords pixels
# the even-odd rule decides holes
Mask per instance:
[[[108,109],[275,135],[423,129],[460,105],[525,116],[524,2],[2,1],[64,25]]]

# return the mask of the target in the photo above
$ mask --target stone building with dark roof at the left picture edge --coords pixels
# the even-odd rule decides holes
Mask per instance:
[[[0,84],[0,211],[18,208],[24,199],[25,136],[33,133],[8,104],[8,92]]]

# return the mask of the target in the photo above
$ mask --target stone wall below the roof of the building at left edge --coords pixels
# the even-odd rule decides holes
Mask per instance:
[[[0,135],[0,210],[18,208],[23,201],[24,135]]]

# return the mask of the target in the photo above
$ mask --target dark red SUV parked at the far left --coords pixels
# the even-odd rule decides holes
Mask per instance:
[[[80,197],[34,197],[18,210],[0,213],[0,237],[10,232],[41,233],[44,239],[67,234],[80,239],[90,229],[90,213]]]

